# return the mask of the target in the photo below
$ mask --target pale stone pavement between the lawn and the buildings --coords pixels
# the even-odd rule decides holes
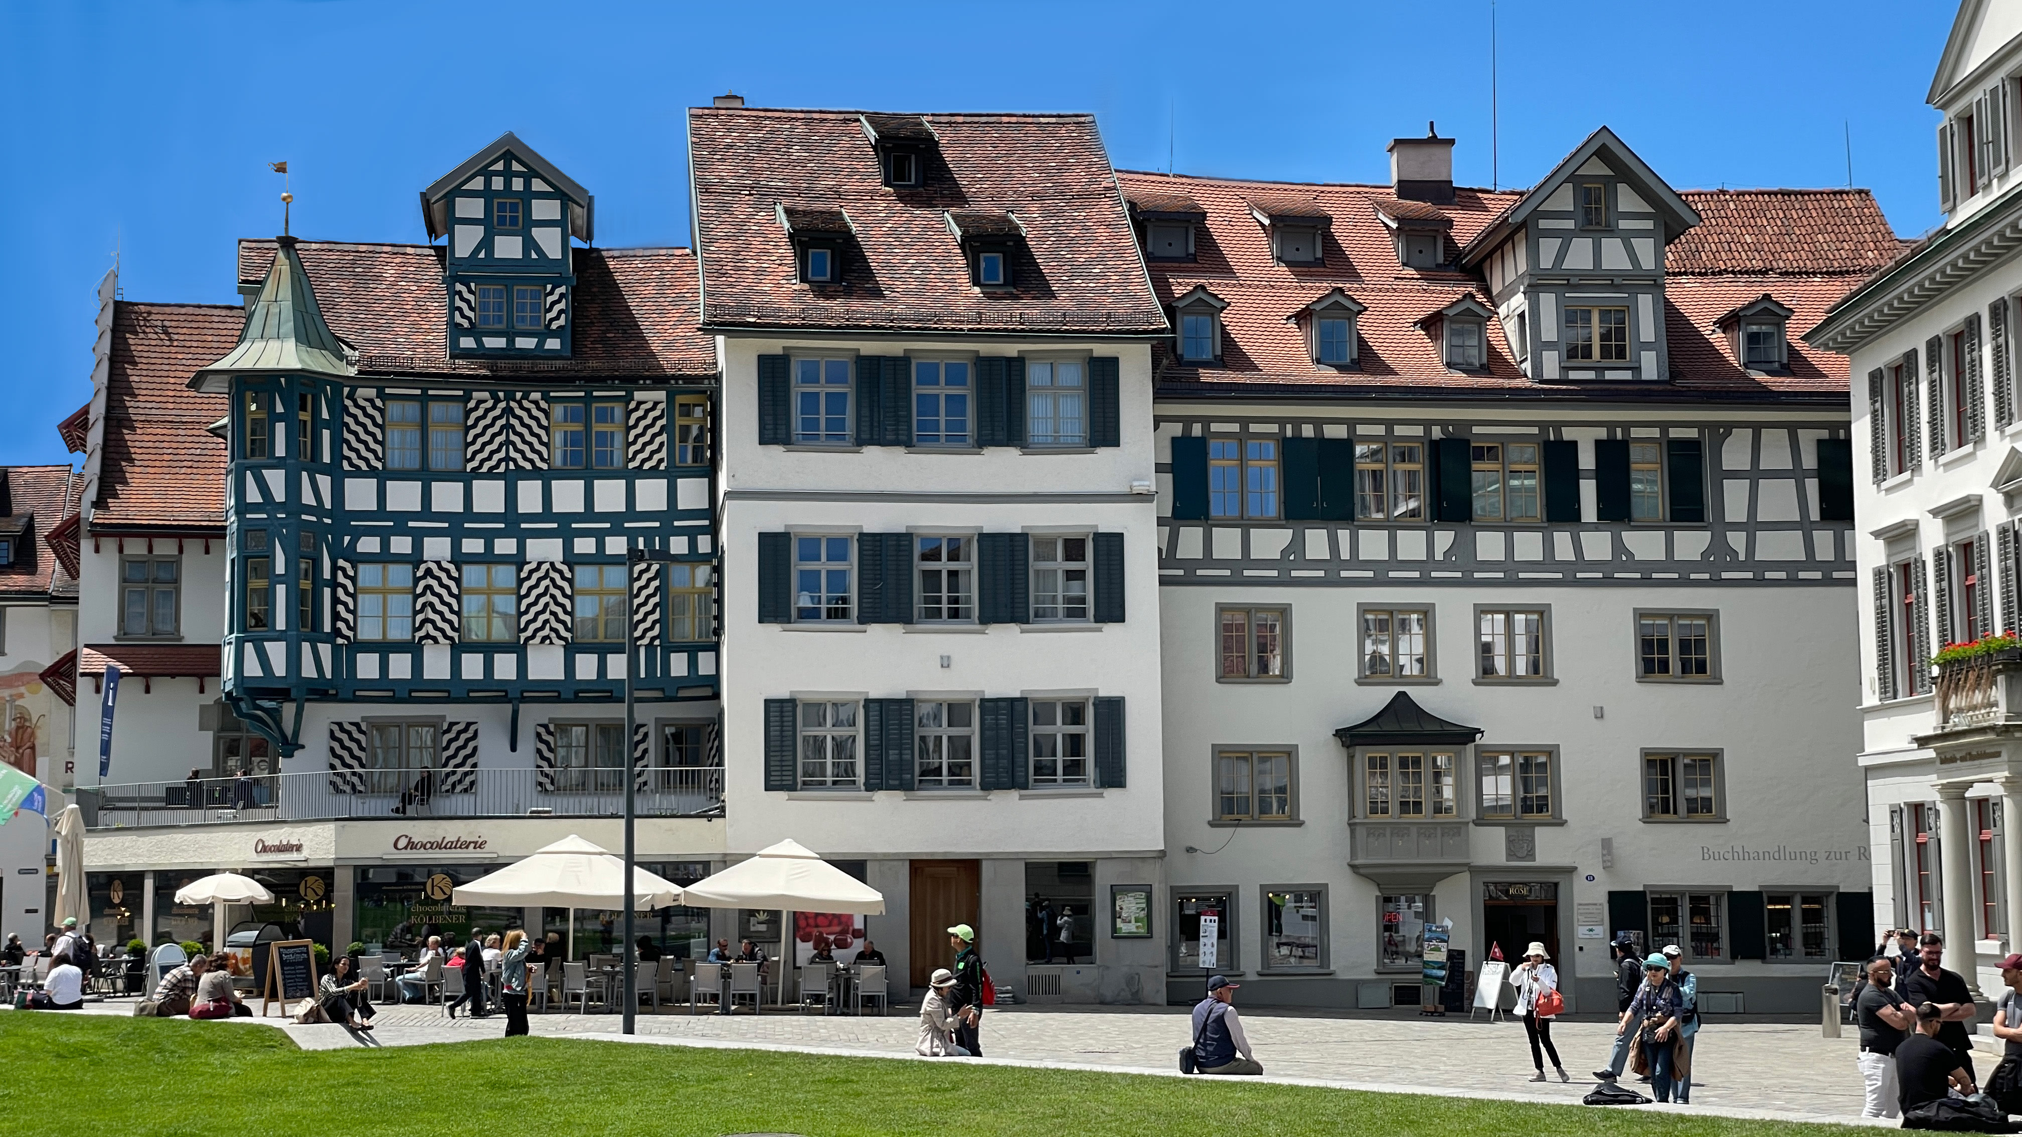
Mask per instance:
[[[91,1005],[97,1014],[131,1014],[127,1001]],[[615,1042],[619,1016],[534,1014],[532,1032],[550,1038]],[[237,1020],[257,1022],[257,1020]],[[279,1016],[267,1020],[279,1026]],[[354,1038],[336,1026],[287,1026],[305,1050],[350,1046],[419,1046],[499,1038],[505,1018],[447,1020],[439,1010],[388,1005],[374,1032]],[[1605,1064],[1614,1040],[1607,1022],[1559,1022],[1553,1040],[1569,1084],[1531,1082],[1531,1050],[1521,1022],[1466,1018],[1322,1018],[1278,1010],[1244,1012],[1244,1030],[1268,1070],[1268,1080],[1432,1092],[1575,1105],[1593,1088],[1591,1070]],[[807,1050],[817,1054],[912,1056],[918,1020],[904,1005],[892,1016],[720,1016],[651,1008],[637,1018],[637,1042]],[[989,1058],[1118,1072],[1173,1072],[1175,1052],[1191,1038],[1183,1008],[999,1008],[983,1020]],[[1994,1040],[1978,1040],[1980,1076],[1994,1070]],[[1694,1113],[1775,1117],[1783,1121],[1860,1121],[1856,1032],[1822,1038],[1816,1024],[1711,1022],[1694,1050]],[[1628,1084],[1636,1084],[1630,1080]],[[1648,1086],[1638,1086],[1650,1095]],[[1650,1095],[1654,1097],[1654,1095]],[[1652,1107],[1678,1109],[1678,1107]],[[1889,1123],[1895,1125],[1895,1123]]]

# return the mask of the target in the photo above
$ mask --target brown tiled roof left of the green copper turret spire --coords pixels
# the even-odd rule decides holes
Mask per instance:
[[[204,427],[222,395],[190,390],[196,368],[233,350],[237,303],[115,301],[105,441],[91,528],[224,528],[224,441]]]

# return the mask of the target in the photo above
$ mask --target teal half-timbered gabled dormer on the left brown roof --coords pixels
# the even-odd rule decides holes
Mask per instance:
[[[596,198],[508,132],[423,190],[421,212],[449,239],[451,356],[570,354],[568,241],[594,237]]]

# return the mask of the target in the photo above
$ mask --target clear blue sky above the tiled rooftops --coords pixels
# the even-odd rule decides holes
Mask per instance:
[[[1610,125],[1676,188],[1870,186],[1939,221],[1923,97],[1949,4],[1500,0],[1500,184]],[[233,241],[425,241],[417,192],[512,129],[601,245],[690,241],[683,107],[1094,111],[1120,168],[1383,182],[1436,119],[1490,182],[1488,0],[1444,4],[313,4],[0,0],[0,463],[65,461],[95,287],[237,301]]]

